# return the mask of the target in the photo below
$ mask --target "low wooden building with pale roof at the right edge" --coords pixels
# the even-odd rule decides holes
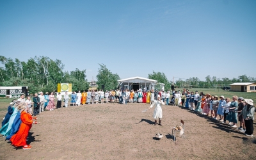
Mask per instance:
[[[256,83],[233,83],[230,84],[233,92],[256,92]]]

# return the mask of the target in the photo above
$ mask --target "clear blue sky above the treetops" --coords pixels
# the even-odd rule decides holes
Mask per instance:
[[[95,78],[256,77],[256,1],[0,1],[0,54]]]

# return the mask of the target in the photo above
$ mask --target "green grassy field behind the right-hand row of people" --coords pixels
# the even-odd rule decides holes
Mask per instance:
[[[180,90],[182,91],[183,88],[177,88],[175,90]],[[209,93],[211,95],[218,95],[218,97],[220,97],[221,95],[224,95],[224,97],[228,97],[230,98],[230,100],[232,100],[232,96],[233,95],[237,95],[238,97],[243,97],[244,99],[252,99],[254,104],[256,103],[256,93],[247,93],[247,92],[230,92],[230,91],[225,91],[225,90],[218,90],[218,89],[206,89],[206,88],[191,88],[189,89],[189,91],[198,91],[198,93],[200,92],[204,92],[204,94]]]

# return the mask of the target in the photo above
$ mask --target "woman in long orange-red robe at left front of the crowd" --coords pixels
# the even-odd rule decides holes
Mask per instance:
[[[16,134],[12,136],[10,141],[12,141],[12,145],[15,147],[23,146],[23,149],[27,150],[31,148],[31,146],[27,145],[26,142],[29,129],[31,129],[32,124],[37,124],[37,122],[33,122],[33,117],[28,113],[29,108],[26,104],[24,104],[22,108],[23,109],[20,111],[20,120],[22,122],[20,124],[20,129]]]

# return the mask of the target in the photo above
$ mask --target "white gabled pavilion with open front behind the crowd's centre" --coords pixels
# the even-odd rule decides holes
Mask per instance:
[[[139,90],[140,88],[143,90],[154,90],[157,84],[160,84],[161,89],[164,90],[163,83],[157,83],[157,80],[148,79],[143,77],[131,77],[126,79],[118,80],[119,89],[129,89],[129,90]]]

